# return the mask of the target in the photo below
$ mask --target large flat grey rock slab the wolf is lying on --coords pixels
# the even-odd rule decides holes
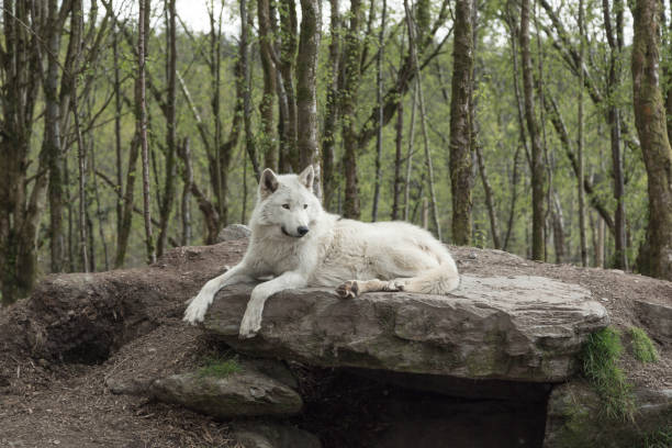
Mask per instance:
[[[575,284],[541,277],[462,277],[447,296],[331,289],[269,298],[259,334],[237,337],[253,285],[220,292],[206,331],[236,350],[324,367],[471,379],[557,382],[576,371],[584,337],[606,310]]]

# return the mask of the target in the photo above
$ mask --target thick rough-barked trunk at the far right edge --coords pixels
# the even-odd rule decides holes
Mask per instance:
[[[649,224],[638,265],[648,276],[672,280],[672,148],[659,85],[659,4],[657,0],[638,0],[634,11],[635,123],[649,191]]]

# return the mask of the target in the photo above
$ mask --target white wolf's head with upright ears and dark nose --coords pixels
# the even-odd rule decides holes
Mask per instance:
[[[300,175],[276,175],[267,168],[259,179],[256,224],[277,227],[279,234],[301,238],[322,215],[313,194],[315,173],[309,166]]]

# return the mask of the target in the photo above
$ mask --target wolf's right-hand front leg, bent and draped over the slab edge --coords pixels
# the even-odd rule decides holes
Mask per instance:
[[[296,271],[288,271],[272,280],[257,284],[253,290],[251,298],[247,302],[247,309],[240,323],[239,337],[246,339],[257,334],[261,328],[261,314],[266,300],[276,292],[292,289],[303,288],[307,283],[306,276]]]

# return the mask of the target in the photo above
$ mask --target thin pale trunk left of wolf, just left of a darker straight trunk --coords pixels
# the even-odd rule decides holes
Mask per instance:
[[[138,92],[139,92],[139,119],[138,135],[143,153],[143,212],[145,216],[145,246],[148,262],[156,262],[154,250],[154,237],[152,236],[152,211],[149,204],[149,158],[147,155],[147,103],[145,99],[145,56],[147,44],[146,24],[149,22],[149,0],[139,0],[138,37],[137,37],[137,66],[138,66]],[[147,23],[146,23],[147,22]]]

